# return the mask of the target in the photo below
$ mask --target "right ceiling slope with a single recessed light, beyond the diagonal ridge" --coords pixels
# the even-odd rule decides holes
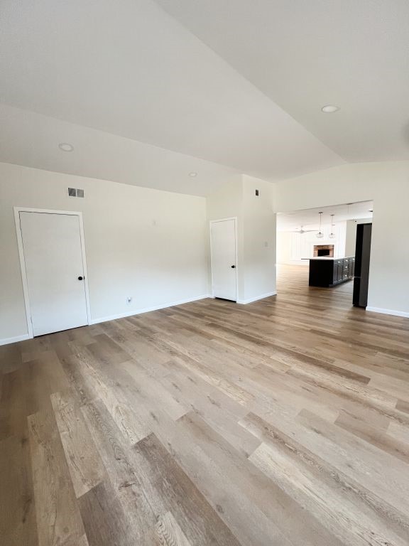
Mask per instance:
[[[345,161],[409,158],[408,0],[157,1]]]

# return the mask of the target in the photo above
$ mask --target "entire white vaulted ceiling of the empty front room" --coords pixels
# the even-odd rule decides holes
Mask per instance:
[[[134,183],[145,143],[163,168],[146,160],[144,185],[191,193],[180,176],[201,168],[205,195],[225,167],[277,181],[408,159],[408,17],[403,0],[3,0],[0,102],[20,114],[0,161]],[[168,180],[163,149],[184,154]]]

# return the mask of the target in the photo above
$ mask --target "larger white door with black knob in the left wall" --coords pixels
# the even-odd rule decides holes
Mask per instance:
[[[20,212],[33,335],[88,324],[80,218]]]

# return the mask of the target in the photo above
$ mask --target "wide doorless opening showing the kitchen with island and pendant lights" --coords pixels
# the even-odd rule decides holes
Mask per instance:
[[[277,291],[366,307],[373,201],[277,214]]]

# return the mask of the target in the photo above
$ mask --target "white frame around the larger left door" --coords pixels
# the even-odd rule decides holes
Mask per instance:
[[[73,210],[53,210],[50,208],[13,207],[13,209],[14,209],[14,220],[16,223],[18,257],[20,258],[21,281],[23,282],[24,306],[26,307],[28,338],[32,339],[34,335],[33,335],[33,323],[31,322],[30,298],[28,296],[26,259],[24,257],[23,233],[21,232],[20,213],[42,213],[42,214],[61,214],[61,215],[78,216],[78,219],[80,221],[82,268],[84,270],[85,303],[87,305],[87,321],[89,324],[91,321],[91,307],[89,305],[87,255],[85,253],[84,224],[82,222],[82,213],[74,212]]]

